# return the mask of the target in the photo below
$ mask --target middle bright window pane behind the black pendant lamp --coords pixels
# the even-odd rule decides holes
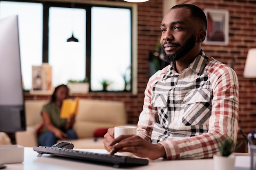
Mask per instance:
[[[85,9],[49,8],[49,65],[52,83],[85,78]],[[78,42],[67,42],[74,34]]]

